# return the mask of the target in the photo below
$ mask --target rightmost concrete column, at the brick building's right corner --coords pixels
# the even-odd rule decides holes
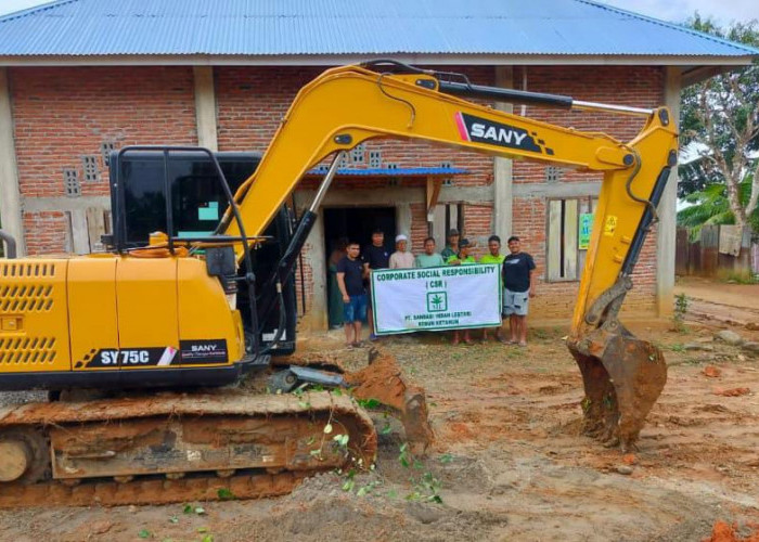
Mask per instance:
[[[665,68],[665,104],[672,121],[680,124],[680,68]],[[677,234],[678,168],[672,168],[667,188],[659,202],[659,223],[656,236],[656,304],[659,317],[672,315],[674,288],[674,246]]]

